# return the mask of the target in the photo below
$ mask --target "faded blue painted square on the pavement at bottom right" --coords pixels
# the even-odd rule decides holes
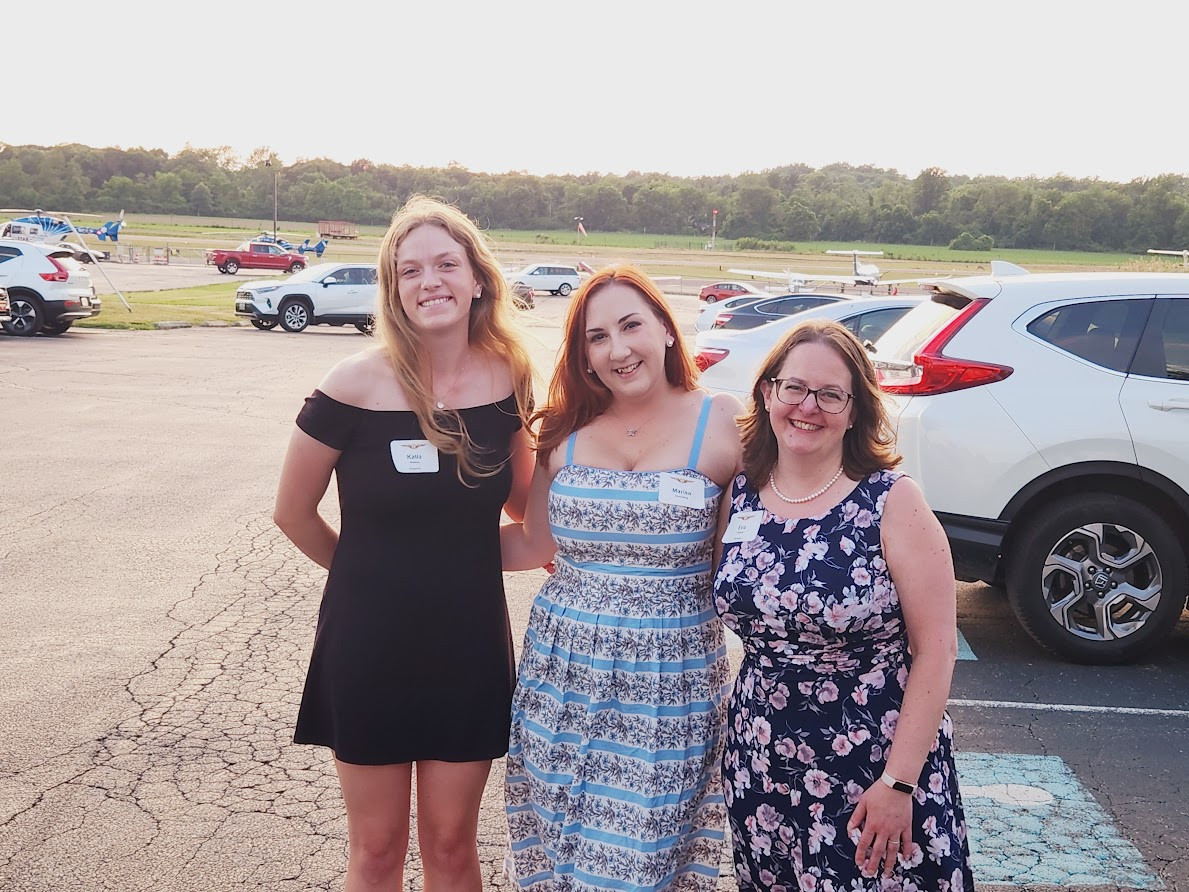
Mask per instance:
[[[980,886],[1165,887],[1061,758],[956,758]]]

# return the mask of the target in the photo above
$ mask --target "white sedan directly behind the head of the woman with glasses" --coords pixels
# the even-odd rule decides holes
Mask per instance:
[[[702,369],[698,383],[713,391],[735,394],[747,402],[768,351],[798,322],[806,319],[833,319],[847,326],[861,341],[873,343],[923,300],[920,295],[904,295],[833,301],[755,328],[702,332],[694,338],[694,362]]]

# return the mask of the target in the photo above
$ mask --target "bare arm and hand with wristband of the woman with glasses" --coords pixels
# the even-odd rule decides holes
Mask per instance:
[[[945,530],[926,504],[920,488],[908,477],[901,477],[888,491],[881,532],[883,557],[900,597],[912,652],[904,704],[888,750],[887,773],[916,786],[942,724],[957,660],[954,560]],[[880,780],[858,800],[848,831],[862,825],[856,861],[862,866],[866,860],[872,875],[881,860],[883,874],[891,874],[895,853],[886,853],[888,842],[898,841],[899,850],[905,858],[910,855],[912,804],[912,796]],[[864,858],[868,849],[870,859]]]

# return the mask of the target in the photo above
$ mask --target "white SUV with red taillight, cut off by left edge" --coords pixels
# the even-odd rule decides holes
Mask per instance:
[[[21,338],[62,334],[102,308],[90,274],[56,243],[0,239],[0,288],[8,291],[4,329]]]

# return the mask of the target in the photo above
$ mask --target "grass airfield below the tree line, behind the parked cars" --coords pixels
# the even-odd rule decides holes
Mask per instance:
[[[234,246],[240,241],[271,231],[271,220],[149,216],[128,215],[120,233],[119,251],[138,247],[181,249],[193,257],[201,257],[207,247]],[[316,224],[278,221],[281,238],[300,243],[316,240]],[[373,260],[384,234],[383,226],[360,226],[358,239],[336,239],[325,260]],[[730,269],[768,269],[773,271],[849,272],[849,259],[828,256],[828,250],[883,251],[874,259],[888,278],[911,276],[964,276],[987,272],[992,259],[1011,260],[1037,272],[1057,270],[1179,270],[1176,258],[1156,258],[1149,255],[1093,253],[1074,251],[1002,250],[992,252],[950,251],[931,245],[853,245],[826,241],[798,243],[795,252],[736,251],[735,243],[717,239],[713,250],[697,235],[654,235],[627,232],[591,232],[579,240],[572,230],[566,231],[507,231],[493,230],[487,235],[495,245],[501,263],[520,266],[536,260],[574,263],[584,260],[598,268],[609,263],[635,263],[654,276],[678,276],[691,279],[740,278]],[[97,246],[94,239],[90,244]],[[103,247],[112,250],[112,245]],[[240,281],[231,278],[199,288],[169,291],[133,291],[125,299],[133,313],[122,312],[118,299],[108,296],[103,313],[78,322],[82,327],[152,328],[158,321],[182,321],[197,325],[205,321],[233,322],[233,299]],[[682,289],[684,290],[684,289]],[[120,312],[117,312],[120,310]]]

